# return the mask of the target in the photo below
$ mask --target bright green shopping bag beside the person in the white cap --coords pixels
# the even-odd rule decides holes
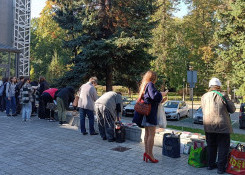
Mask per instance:
[[[196,148],[191,147],[191,152],[188,159],[188,164],[196,168],[202,168],[207,166],[208,156],[207,156],[207,147]]]

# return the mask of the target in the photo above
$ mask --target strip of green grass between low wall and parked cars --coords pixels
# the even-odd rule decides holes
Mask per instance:
[[[195,128],[188,128],[188,127],[182,127],[182,126],[173,126],[173,125],[168,125],[167,128],[171,129],[176,129],[182,131],[187,131],[187,132],[192,132],[192,133],[201,133],[205,135],[204,130],[202,129],[195,129]],[[245,135],[244,134],[231,134],[231,139],[239,142],[245,142]]]

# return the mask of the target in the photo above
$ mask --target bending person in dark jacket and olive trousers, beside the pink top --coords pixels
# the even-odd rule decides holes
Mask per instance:
[[[67,124],[66,122],[66,110],[69,109],[69,105],[74,101],[75,90],[72,87],[66,87],[59,90],[57,93],[57,109],[59,124]]]

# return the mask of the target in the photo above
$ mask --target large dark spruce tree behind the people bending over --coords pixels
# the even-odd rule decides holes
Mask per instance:
[[[152,2],[56,2],[56,20],[60,26],[79,26],[76,28],[79,30],[74,32],[74,39],[65,41],[66,45],[78,48],[78,52],[71,71],[61,81],[79,86],[81,80],[96,75],[105,82],[107,91],[112,90],[114,82],[136,87],[135,80],[149,69],[149,62],[153,59],[146,52],[150,30],[154,27],[150,23],[150,15],[154,11]],[[66,19],[68,14],[72,20]],[[64,21],[61,22],[61,19]]]

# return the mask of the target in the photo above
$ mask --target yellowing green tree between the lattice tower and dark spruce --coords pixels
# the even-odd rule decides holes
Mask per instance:
[[[52,19],[54,2],[47,1],[39,18],[31,21],[31,77],[38,79],[40,75],[49,75],[48,67],[52,57],[57,54],[59,66],[65,71],[69,62],[69,51],[63,49],[65,31]],[[58,77],[55,77],[58,78]],[[50,81],[52,81],[50,79]]]

